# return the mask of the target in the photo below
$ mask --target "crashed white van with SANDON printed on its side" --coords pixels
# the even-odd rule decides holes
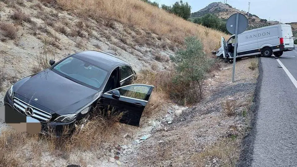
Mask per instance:
[[[227,42],[222,37],[217,57],[233,58],[235,35]],[[281,56],[283,52],[294,50],[293,33],[290,24],[278,24],[245,31],[238,35],[236,58],[262,54],[264,57]]]

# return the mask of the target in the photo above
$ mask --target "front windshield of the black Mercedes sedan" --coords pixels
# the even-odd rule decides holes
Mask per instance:
[[[75,57],[63,60],[53,71],[93,89],[100,88],[107,75],[103,69]]]

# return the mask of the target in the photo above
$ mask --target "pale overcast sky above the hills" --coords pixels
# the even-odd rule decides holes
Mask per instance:
[[[172,5],[179,0],[151,0],[160,4]],[[224,0],[183,0],[192,7],[192,13],[199,11],[212,2],[223,2]],[[227,0],[227,3],[239,10],[248,11],[248,2],[250,4],[250,13],[259,16],[261,19],[280,21],[282,23],[297,22],[297,0]]]

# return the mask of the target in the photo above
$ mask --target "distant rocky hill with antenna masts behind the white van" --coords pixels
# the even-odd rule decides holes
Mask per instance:
[[[248,17],[248,13],[243,10],[238,10],[233,8],[229,4],[224,4],[222,2],[213,2],[210,3],[208,6],[204,7],[203,9],[192,13],[191,17],[202,17],[205,14],[215,14],[217,17],[221,19],[228,19],[230,15],[235,13],[241,13]],[[251,14],[248,17],[249,26],[248,29],[260,28],[269,25],[279,24],[279,22],[268,22],[265,19],[260,19],[257,15]]]

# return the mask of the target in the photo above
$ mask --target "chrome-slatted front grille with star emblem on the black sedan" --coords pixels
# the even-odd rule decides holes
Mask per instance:
[[[36,107],[33,107],[32,105],[29,105],[16,97],[13,98],[13,106],[16,110],[18,110],[20,113],[23,113],[24,115],[27,115],[25,114],[26,108],[31,107],[33,109],[31,117],[37,118],[37,120],[40,122],[47,122],[50,118],[52,118],[50,113],[42,111],[41,109],[37,109]]]

